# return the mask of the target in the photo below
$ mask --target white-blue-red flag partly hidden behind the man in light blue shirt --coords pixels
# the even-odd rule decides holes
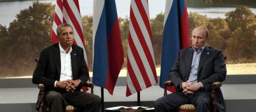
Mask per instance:
[[[190,47],[186,0],[166,0],[160,87],[168,81],[169,71],[180,49]],[[168,88],[175,92],[174,87]]]

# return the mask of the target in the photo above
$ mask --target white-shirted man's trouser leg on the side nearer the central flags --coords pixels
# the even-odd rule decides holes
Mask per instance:
[[[101,98],[94,94],[86,92],[68,92],[63,94],[68,104],[73,105],[80,111],[99,111],[101,107]]]

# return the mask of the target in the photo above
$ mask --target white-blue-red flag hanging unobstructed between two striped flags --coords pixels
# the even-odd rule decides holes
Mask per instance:
[[[93,77],[92,82],[108,89],[114,86],[124,62],[119,20],[114,0],[93,1]]]

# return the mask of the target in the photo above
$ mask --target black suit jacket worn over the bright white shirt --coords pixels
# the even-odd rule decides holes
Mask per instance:
[[[75,91],[80,91],[82,85],[89,79],[86,70],[84,51],[82,48],[72,45],[71,66],[73,80],[80,79],[81,84],[76,87]],[[35,67],[32,82],[34,84],[44,84],[45,91],[56,91],[60,93],[66,92],[66,89],[54,87],[54,82],[59,81],[61,76],[61,56],[58,43],[41,51],[40,58]],[[38,94],[36,108],[41,102],[41,92]]]

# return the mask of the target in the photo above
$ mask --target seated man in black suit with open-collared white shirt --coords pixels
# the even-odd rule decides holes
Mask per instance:
[[[45,101],[50,111],[63,112],[68,104],[79,111],[99,111],[101,98],[81,92],[89,75],[83,49],[73,44],[72,27],[68,24],[58,26],[57,39],[59,43],[41,51],[32,82],[45,85]],[[37,110],[40,101],[38,97]]]

